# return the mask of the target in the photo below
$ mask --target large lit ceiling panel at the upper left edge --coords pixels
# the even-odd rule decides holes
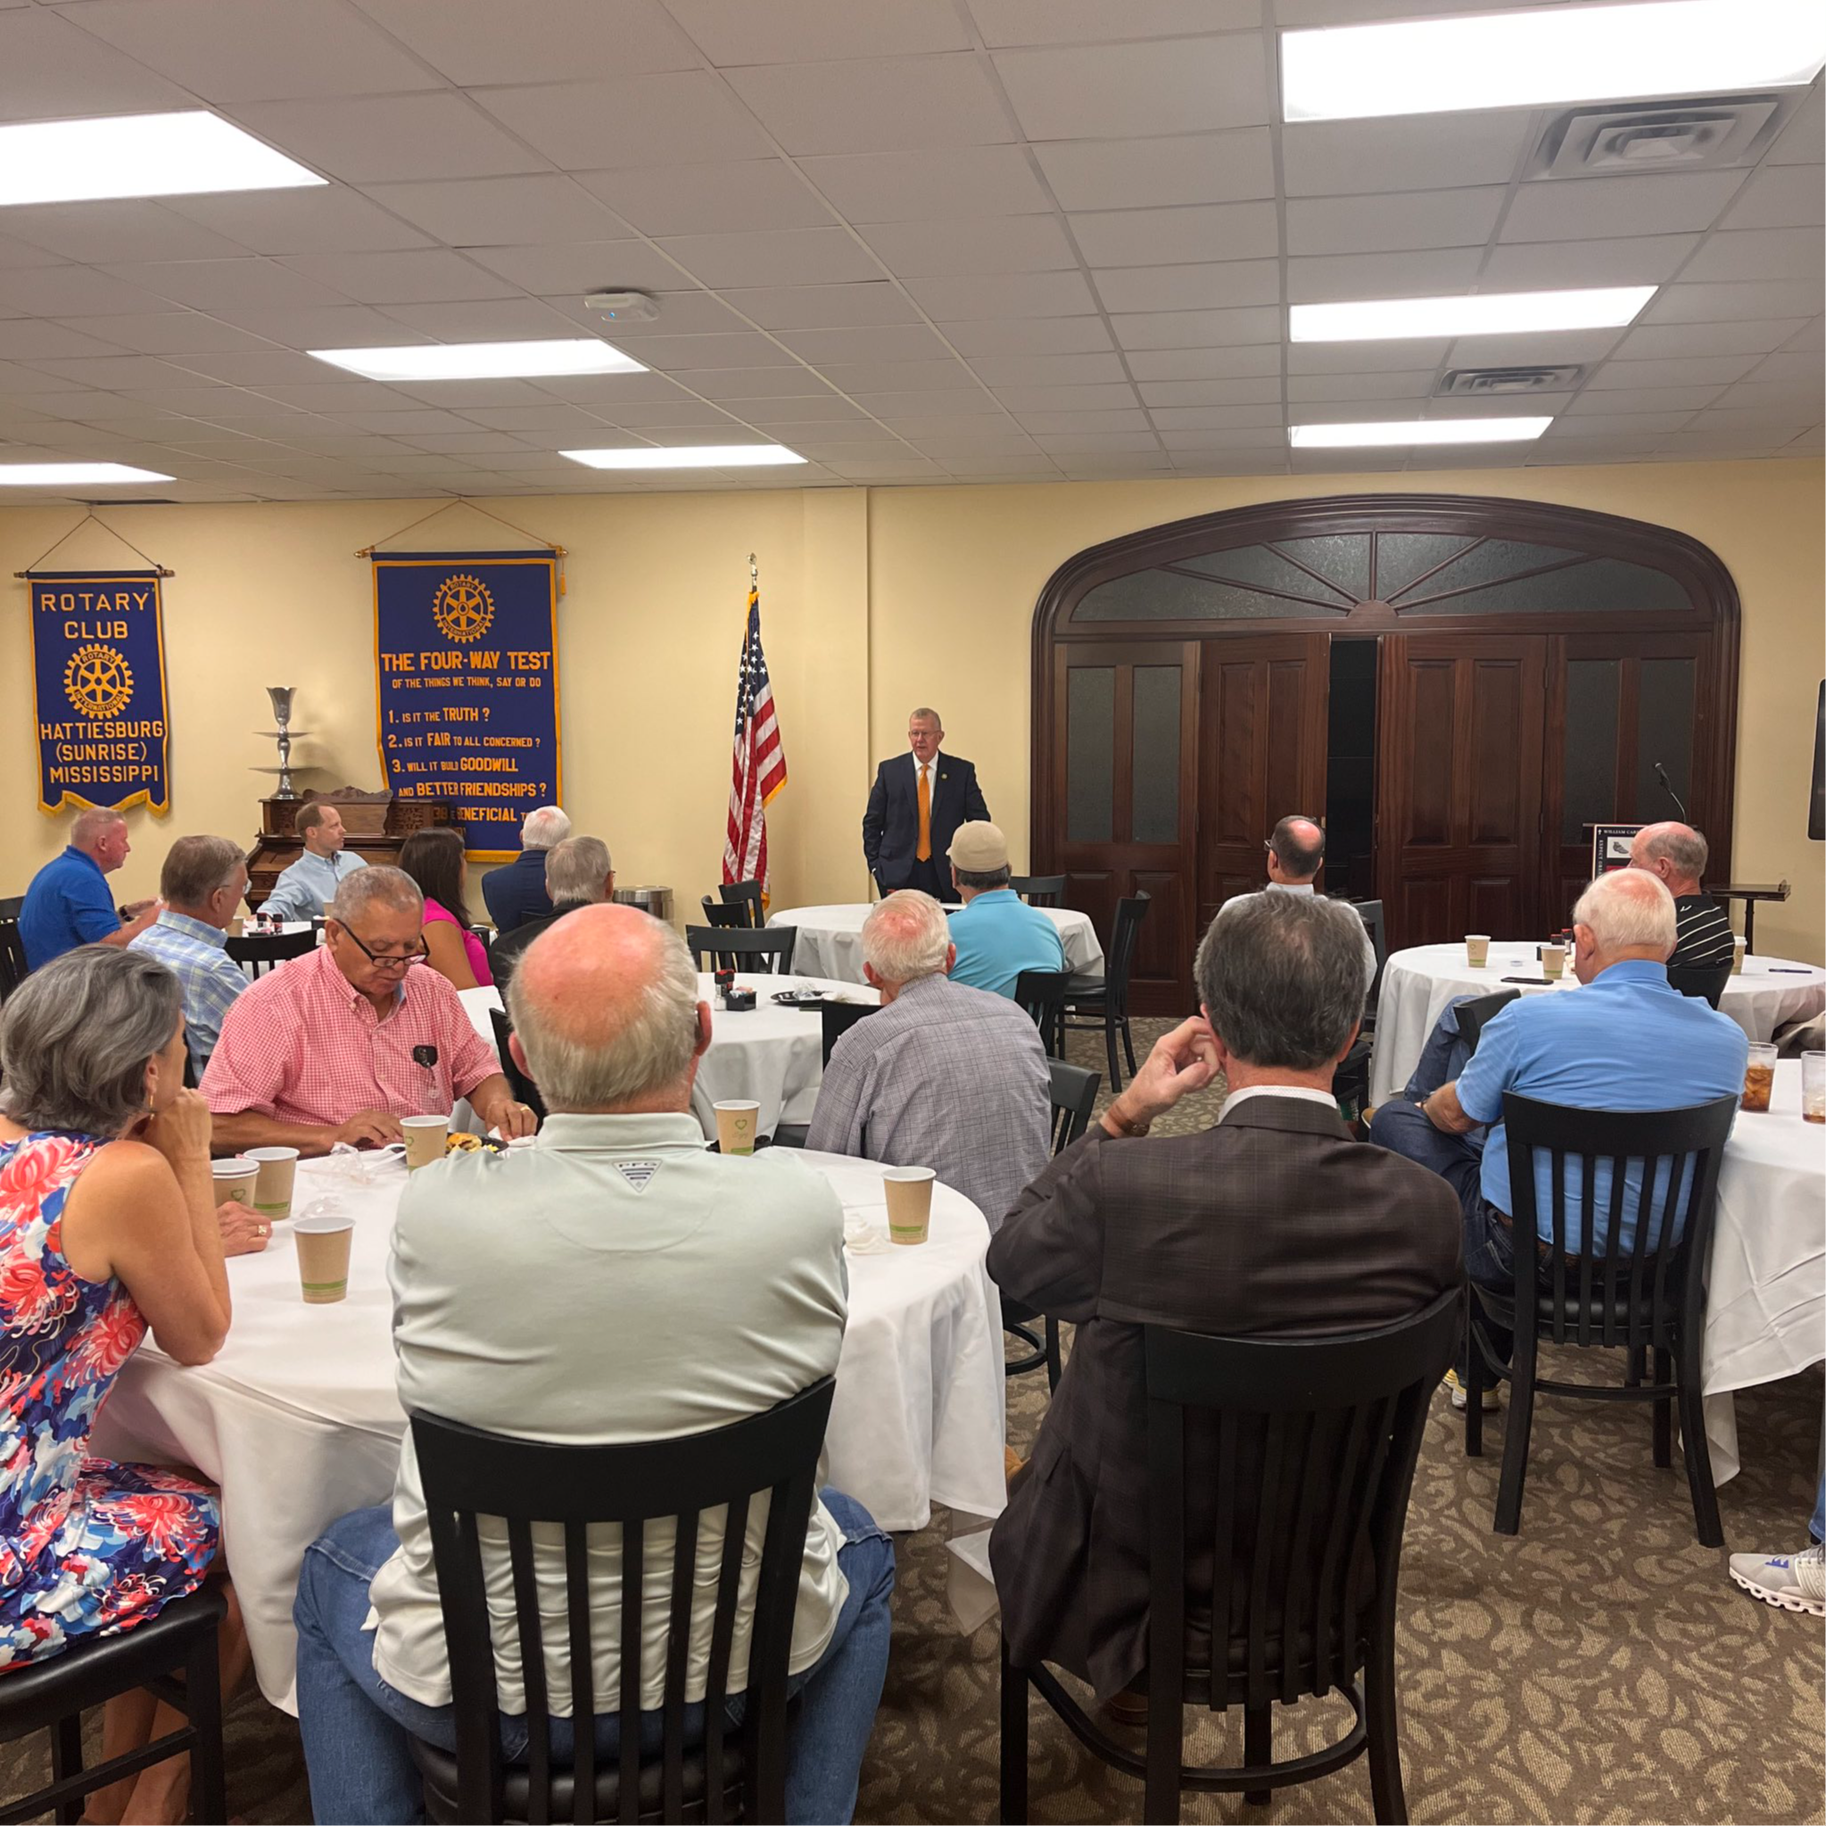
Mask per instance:
[[[0,126],[0,205],[296,190],[327,177],[201,110]]]

